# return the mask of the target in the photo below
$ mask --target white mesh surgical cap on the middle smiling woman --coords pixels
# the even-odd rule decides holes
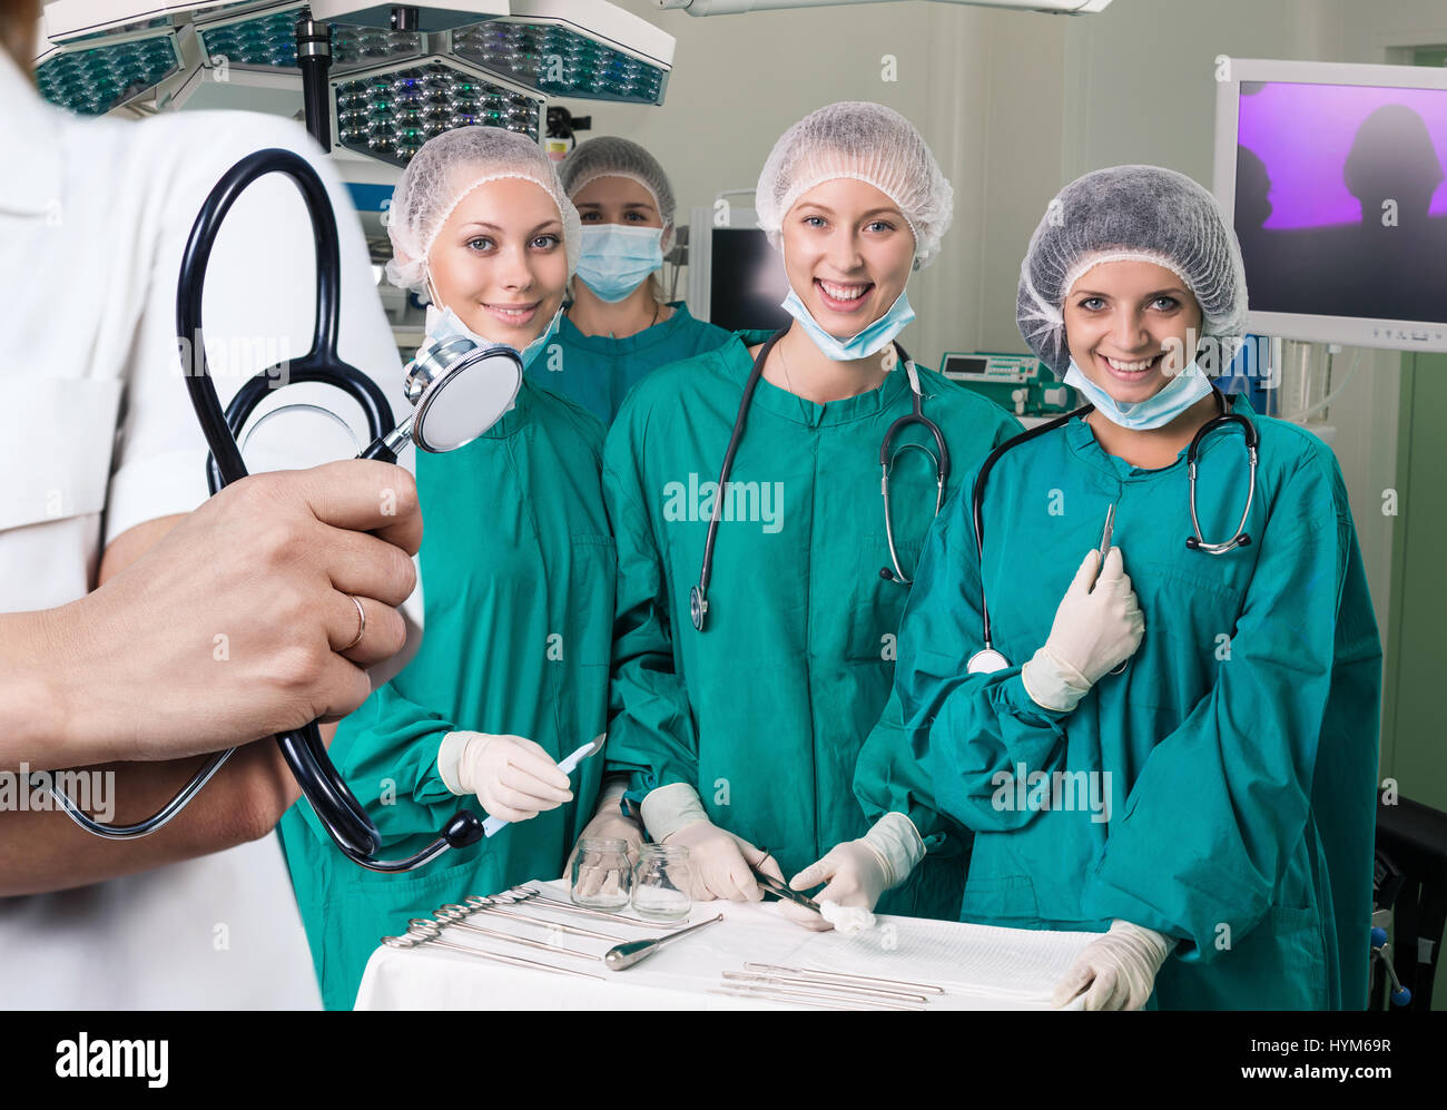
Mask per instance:
[[[774,143],[754,195],[758,226],[768,242],[778,246],[794,201],[836,178],[864,181],[894,201],[915,233],[915,260],[920,266],[939,253],[939,240],[954,217],[955,191],[913,123],[893,109],[862,100],[822,107]]]

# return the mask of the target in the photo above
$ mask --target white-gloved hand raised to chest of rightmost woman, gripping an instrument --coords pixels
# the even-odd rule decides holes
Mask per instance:
[[[1069,712],[1091,686],[1136,654],[1145,630],[1120,548],[1110,548],[1103,567],[1100,551],[1091,548],[1055,611],[1045,647],[1020,669],[1026,693],[1045,709]]]

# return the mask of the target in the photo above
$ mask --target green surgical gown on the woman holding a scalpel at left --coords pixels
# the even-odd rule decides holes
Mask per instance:
[[[382,832],[379,855],[430,844],[459,809],[437,773],[447,732],[514,734],[561,758],[603,732],[616,556],[601,489],[602,427],[524,379],[482,439],[417,456],[425,533],[417,656],[337,731],[331,760]],[[593,815],[602,760],[572,776],[573,802],[402,874],[347,860],[302,799],[282,818],[327,1009],[356,999],[368,957],[410,918],[556,878]]]

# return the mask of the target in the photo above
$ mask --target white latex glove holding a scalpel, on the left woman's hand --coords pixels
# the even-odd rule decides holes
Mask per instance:
[[[449,732],[437,770],[454,795],[476,795],[488,816],[527,821],[573,800],[567,776],[531,740],[491,732]]]

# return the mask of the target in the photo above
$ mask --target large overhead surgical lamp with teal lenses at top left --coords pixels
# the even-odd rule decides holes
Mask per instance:
[[[117,10],[122,9],[122,10]],[[88,114],[179,107],[200,78],[301,93],[307,126],[405,165],[438,132],[538,140],[550,97],[661,104],[673,36],[606,0],[55,0],[36,75]]]

